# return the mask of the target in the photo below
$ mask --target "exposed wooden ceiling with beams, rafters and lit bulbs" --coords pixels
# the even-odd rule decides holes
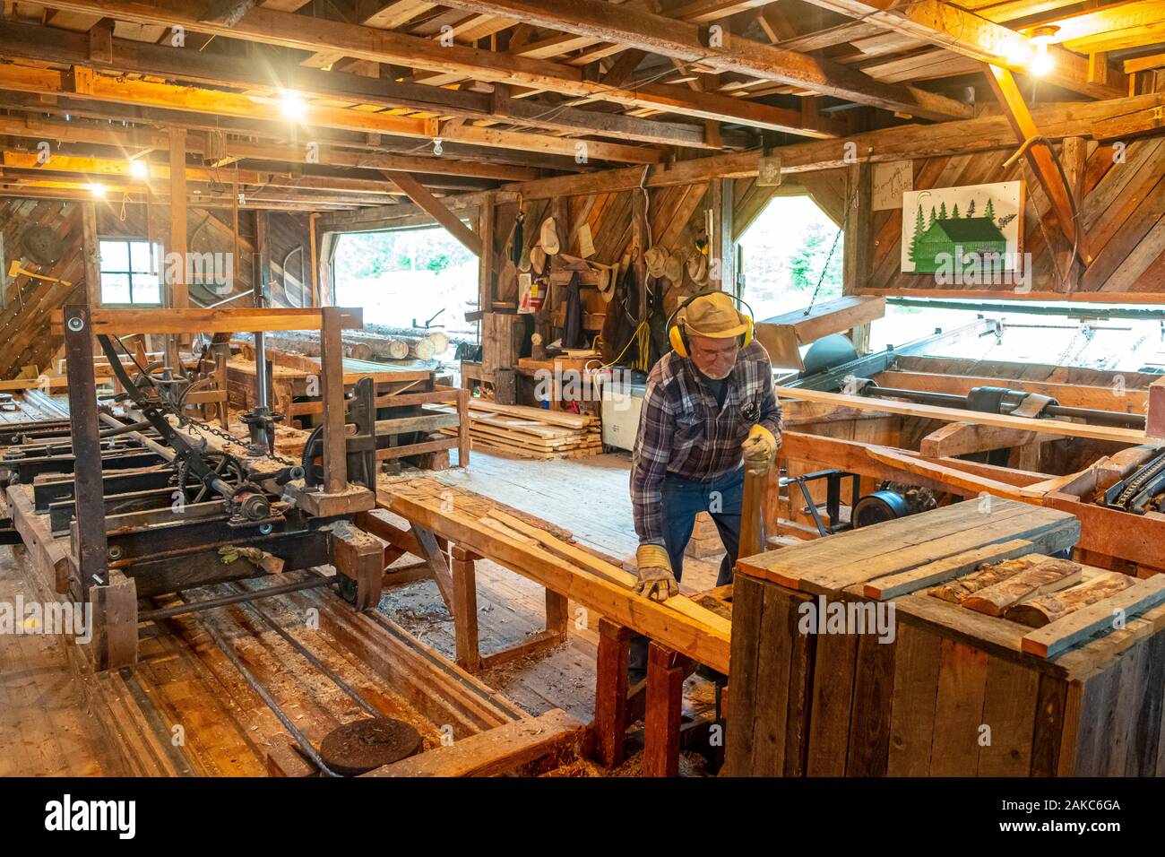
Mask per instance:
[[[2,15],[0,195],[164,197],[182,127],[200,202],[298,210],[391,203],[401,174],[445,196],[965,120],[983,110],[968,86],[991,101],[984,62],[1022,73],[1036,27],[1054,28],[1038,100],[1150,91],[1165,68],[1165,0],[3,0]]]

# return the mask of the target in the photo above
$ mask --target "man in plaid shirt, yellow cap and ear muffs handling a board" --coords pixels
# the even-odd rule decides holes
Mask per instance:
[[[651,370],[631,465],[638,591],[676,595],[696,515],[708,512],[725,546],[716,585],[730,583],[740,543],[744,466],[768,472],[781,445],[772,368],[725,293],[692,301],[680,319],[687,356]]]

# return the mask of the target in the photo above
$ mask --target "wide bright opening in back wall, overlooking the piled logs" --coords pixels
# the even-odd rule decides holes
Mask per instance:
[[[478,258],[440,226],[348,232],[332,265],[336,302],[362,307],[365,324],[443,329],[476,342]]]

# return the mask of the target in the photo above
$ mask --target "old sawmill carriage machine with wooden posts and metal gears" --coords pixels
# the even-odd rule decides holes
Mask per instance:
[[[264,312],[281,322],[287,310]],[[340,312],[329,308],[320,317],[332,321],[322,323],[338,325]],[[370,378],[345,393],[343,370],[333,367],[340,407],[324,413],[303,455],[291,458],[276,450],[274,421],[259,431],[248,424],[250,437],[235,437],[198,419],[188,407],[197,373],[142,365],[115,332],[91,330],[84,307],[66,307],[63,321],[70,420],[5,430],[0,480],[12,526],[0,534],[69,546],[68,562],[54,568],[57,590],[94,604],[101,668],[133,662],[140,620],[227,603],[186,597],[209,584],[298,571],[306,576],[289,575],[228,602],[336,585],[356,609],[375,606],[383,545],[353,524],[375,507]],[[96,394],[94,340],[120,387],[113,395]],[[329,368],[324,360],[322,372]],[[343,442],[330,444],[337,434]],[[322,576],[320,567],[337,574]],[[139,603],[169,593],[182,603]]]

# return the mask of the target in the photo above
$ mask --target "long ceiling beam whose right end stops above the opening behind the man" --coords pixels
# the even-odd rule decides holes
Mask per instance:
[[[197,14],[192,14],[189,6],[181,0],[157,0],[149,5],[139,0],[51,0],[49,6],[98,16],[107,14],[134,23],[183,26],[191,31],[295,48],[313,54],[338,52],[356,59],[393,63],[439,73],[456,73],[476,80],[525,84],[572,97],[595,97],[628,106],[651,107],[685,115],[707,118],[704,113],[715,110],[718,121],[737,121],[744,125],[772,121],[774,126],[782,127],[802,124],[802,119],[795,115],[796,111],[788,108],[741,101],[714,93],[692,99],[686,97],[691,93],[685,94],[683,90],[661,84],[627,90],[612,89],[598,80],[587,79],[579,69],[570,65],[460,44],[445,47],[430,38],[320,17],[310,19],[310,26],[305,26],[306,19],[302,15],[267,8],[252,9],[231,28],[198,21]],[[939,100],[945,103],[948,99]]]

